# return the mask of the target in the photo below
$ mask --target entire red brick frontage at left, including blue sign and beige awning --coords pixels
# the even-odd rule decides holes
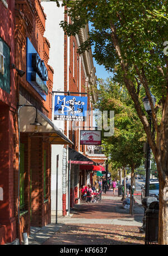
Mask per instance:
[[[23,233],[29,236],[30,226],[50,223],[51,144],[71,141],[51,121],[54,71],[48,65],[50,44],[44,37],[46,17],[40,1],[3,0],[0,4],[4,15],[0,50],[5,60],[0,74],[4,123],[0,130],[0,244],[4,244],[16,238],[21,243]]]

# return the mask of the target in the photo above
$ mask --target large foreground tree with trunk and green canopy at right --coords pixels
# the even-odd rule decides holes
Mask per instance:
[[[115,71],[113,80],[126,86],[134,102],[160,182],[158,244],[168,244],[167,0],[63,0],[63,5],[68,7],[66,12],[72,21],[61,23],[64,31],[75,35],[86,24],[92,24],[79,51],[94,44],[97,63]],[[152,131],[139,97],[142,90],[150,100]],[[157,98],[156,107],[150,93]]]

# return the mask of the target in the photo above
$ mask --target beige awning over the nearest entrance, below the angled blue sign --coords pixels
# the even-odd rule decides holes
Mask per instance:
[[[27,104],[27,103],[26,103]],[[20,109],[20,132],[34,132],[35,126],[30,125],[34,123],[36,116],[36,109],[34,107],[22,107]],[[38,132],[34,132],[32,136],[38,137],[43,134],[44,139],[50,144],[73,144],[71,140],[58,129],[53,122],[38,110],[38,122],[42,126],[38,126]]]

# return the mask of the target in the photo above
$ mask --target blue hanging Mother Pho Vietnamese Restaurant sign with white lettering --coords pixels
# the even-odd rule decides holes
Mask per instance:
[[[55,95],[54,120],[85,121],[87,97]]]

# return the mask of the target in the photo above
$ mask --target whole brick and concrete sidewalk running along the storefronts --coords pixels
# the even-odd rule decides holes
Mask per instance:
[[[52,216],[50,225],[32,228],[29,244],[144,244],[138,228],[142,226],[143,208],[136,203],[131,216],[122,203],[121,196],[114,196],[112,191],[102,194],[101,203],[81,202],[70,216],[58,216],[58,225]]]

